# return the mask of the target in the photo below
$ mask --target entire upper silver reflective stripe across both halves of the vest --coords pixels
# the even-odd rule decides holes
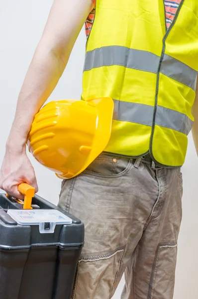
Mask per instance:
[[[157,74],[159,62],[160,57],[148,51],[123,46],[106,46],[86,53],[84,71],[102,66],[120,65]],[[160,73],[196,89],[197,71],[167,54],[164,54]]]

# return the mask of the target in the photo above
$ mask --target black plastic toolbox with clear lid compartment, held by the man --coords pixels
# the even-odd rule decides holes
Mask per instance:
[[[71,299],[84,224],[35,195],[0,193],[0,299]]]

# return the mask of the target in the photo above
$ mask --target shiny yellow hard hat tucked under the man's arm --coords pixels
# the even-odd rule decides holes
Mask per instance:
[[[35,115],[28,148],[59,178],[80,174],[105,149],[111,133],[113,100],[60,100]]]

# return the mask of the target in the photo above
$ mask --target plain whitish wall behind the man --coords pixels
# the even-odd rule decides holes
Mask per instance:
[[[53,0],[0,1],[0,164],[14,117],[19,89],[39,41]],[[85,53],[82,30],[67,69],[49,100],[80,99]],[[39,195],[57,203],[61,181],[30,157],[36,171]],[[183,167],[183,223],[179,239],[174,299],[198,298],[198,157],[190,136]],[[114,299],[119,299],[121,282]],[[159,298],[160,299],[160,298]]]

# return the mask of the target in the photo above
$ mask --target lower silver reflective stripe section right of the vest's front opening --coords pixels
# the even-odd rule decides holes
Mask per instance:
[[[155,124],[186,135],[193,127],[193,121],[186,114],[162,106],[157,106]]]

